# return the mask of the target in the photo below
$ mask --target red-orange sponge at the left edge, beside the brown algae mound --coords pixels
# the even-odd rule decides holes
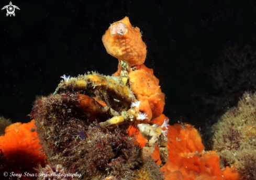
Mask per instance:
[[[5,135],[0,136],[0,149],[10,162],[12,171],[17,174],[36,173],[38,164],[45,166],[45,155],[40,154],[42,145],[38,144],[37,133],[31,132],[35,120],[28,123],[14,123],[5,129]],[[35,179],[34,177],[21,177],[21,179]]]

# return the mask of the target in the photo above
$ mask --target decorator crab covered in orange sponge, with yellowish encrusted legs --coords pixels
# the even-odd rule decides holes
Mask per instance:
[[[142,148],[141,158],[146,161],[157,144],[163,166],[168,159],[167,138],[169,120],[163,125],[152,125],[151,120],[160,116],[164,107],[164,93],[159,80],[143,63],[146,59],[146,45],[141,39],[140,29],[133,28],[129,18],[110,25],[102,41],[107,53],[119,61],[118,71],[112,76],[95,72],[66,77],[54,94],[63,90],[86,89],[96,98],[83,96],[84,112],[88,118],[110,114],[112,118],[101,122],[103,128],[128,128],[136,126],[149,141]],[[105,106],[102,106],[104,102]]]

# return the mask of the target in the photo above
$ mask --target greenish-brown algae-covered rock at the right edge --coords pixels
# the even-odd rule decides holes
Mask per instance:
[[[213,149],[221,166],[235,164],[243,179],[256,179],[256,94],[244,93],[214,125]]]

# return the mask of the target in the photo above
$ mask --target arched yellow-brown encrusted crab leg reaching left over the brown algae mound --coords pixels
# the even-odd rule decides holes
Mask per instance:
[[[129,107],[132,101],[136,99],[128,86],[116,81],[118,77],[114,80],[113,77],[93,73],[71,78],[63,76],[63,78],[64,81],[59,84],[55,92],[61,89],[87,89],[96,96],[103,97],[106,104],[116,111],[125,108],[125,106]],[[119,102],[123,105],[120,105]]]

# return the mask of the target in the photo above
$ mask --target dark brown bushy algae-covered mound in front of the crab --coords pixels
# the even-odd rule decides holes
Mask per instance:
[[[83,97],[79,92],[62,92],[34,106],[31,116],[36,119],[35,130],[48,163],[81,174],[82,179],[140,179],[142,169],[149,179],[162,179],[151,158],[142,164],[139,144],[124,129],[99,125],[110,115],[87,118],[81,106]]]

